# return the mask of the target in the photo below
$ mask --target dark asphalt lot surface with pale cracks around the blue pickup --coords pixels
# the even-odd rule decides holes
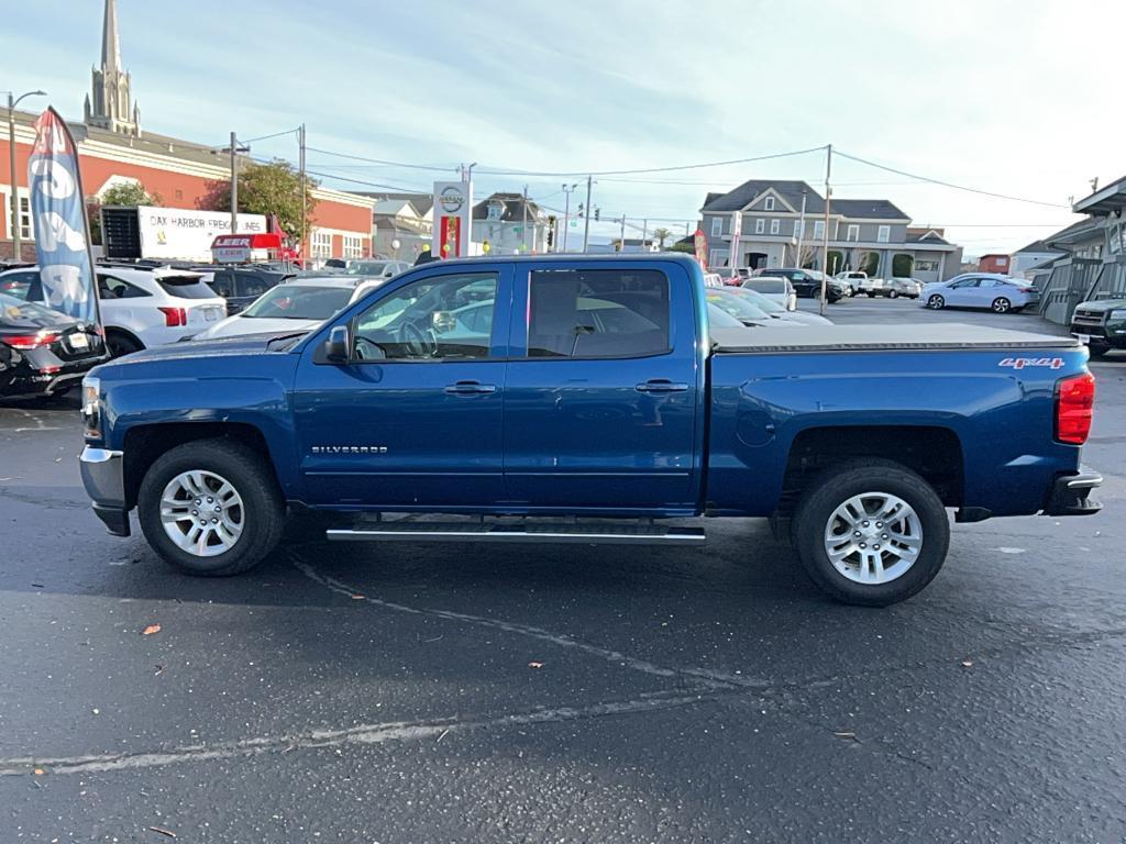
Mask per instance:
[[[957,526],[886,610],[753,521],[191,580],[89,512],[77,402],[0,404],[0,842],[1123,841],[1126,356],[1092,369],[1106,510]]]

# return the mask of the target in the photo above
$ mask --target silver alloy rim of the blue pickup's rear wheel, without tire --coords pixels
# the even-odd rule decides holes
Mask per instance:
[[[903,499],[863,493],[829,517],[824,541],[833,568],[855,583],[878,585],[914,565],[922,551],[922,522]]]

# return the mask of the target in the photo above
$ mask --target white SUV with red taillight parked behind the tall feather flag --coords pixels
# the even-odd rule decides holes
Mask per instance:
[[[226,303],[198,272],[98,266],[97,276],[106,345],[115,358],[176,343],[226,316]],[[38,269],[0,273],[0,293],[44,302]]]

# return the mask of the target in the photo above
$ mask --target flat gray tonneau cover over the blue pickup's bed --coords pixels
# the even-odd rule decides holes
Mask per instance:
[[[1074,349],[1073,336],[1034,334],[965,323],[933,325],[810,325],[802,331],[713,329],[716,353],[811,351],[941,351],[957,349]]]

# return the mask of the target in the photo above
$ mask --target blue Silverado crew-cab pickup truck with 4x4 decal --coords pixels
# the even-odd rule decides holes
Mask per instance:
[[[1094,383],[1072,338],[721,327],[682,255],[440,261],[309,333],[188,342],[83,384],[83,481],[196,575],[332,540],[692,545],[763,517],[835,598],[938,573],[955,521],[1080,515]]]

